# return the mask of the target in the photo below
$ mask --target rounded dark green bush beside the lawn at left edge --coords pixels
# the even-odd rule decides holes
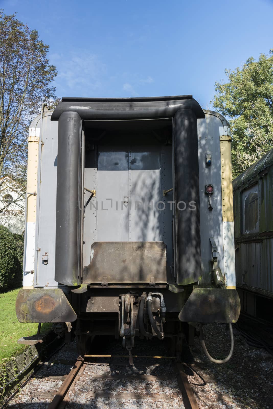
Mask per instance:
[[[0,226],[0,291],[22,285],[23,245],[14,236],[7,227]]]

